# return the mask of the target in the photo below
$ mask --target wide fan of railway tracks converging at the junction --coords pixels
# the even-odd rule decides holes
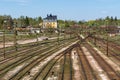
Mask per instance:
[[[0,80],[120,80],[119,45],[109,42],[107,55],[107,41],[90,35],[56,40],[10,46],[5,58],[1,48]]]

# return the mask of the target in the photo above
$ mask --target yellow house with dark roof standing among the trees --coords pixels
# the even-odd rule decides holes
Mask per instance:
[[[57,16],[56,15],[47,15],[43,19],[43,28],[57,28]]]

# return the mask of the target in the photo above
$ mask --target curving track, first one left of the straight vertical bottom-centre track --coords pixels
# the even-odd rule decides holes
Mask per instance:
[[[45,64],[40,72],[32,79],[32,80],[46,80],[48,78],[58,78],[55,76],[55,71],[52,71],[52,68],[58,62],[58,60],[64,55],[64,53],[60,53],[56,55],[53,59],[51,59],[47,64]],[[48,76],[49,75],[49,76]]]

